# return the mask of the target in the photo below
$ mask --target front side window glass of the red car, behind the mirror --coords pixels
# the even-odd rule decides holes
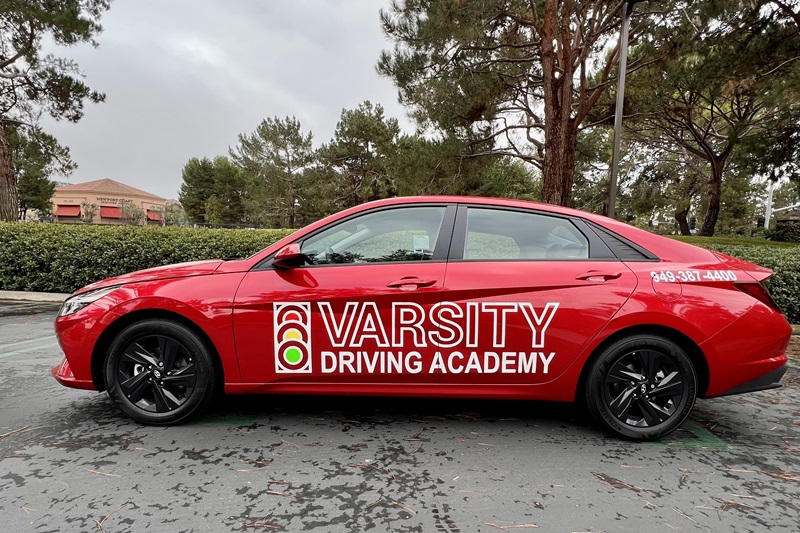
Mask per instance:
[[[314,265],[424,261],[433,257],[446,207],[367,213],[309,237],[300,251]]]

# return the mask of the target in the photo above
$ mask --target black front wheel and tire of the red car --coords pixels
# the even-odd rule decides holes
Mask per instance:
[[[201,412],[217,379],[204,340],[174,320],[131,324],[111,343],[105,360],[108,395],[143,424],[177,424]]]

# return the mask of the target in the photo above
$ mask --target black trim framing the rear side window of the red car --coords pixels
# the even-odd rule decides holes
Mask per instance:
[[[466,248],[467,243],[467,213],[469,208],[478,208],[478,209],[492,209],[494,211],[514,211],[518,213],[526,213],[532,215],[540,215],[540,216],[550,216],[553,218],[560,218],[562,220],[567,220],[573,224],[575,229],[583,235],[586,241],[589,244],[589,257],[586,258],[566,258],[566,259],[555,259],[555,258],[542,258],[542,259],[464,259],[464,251]],[[452,244],[450,245],[450,255],[448,256],[448,261],[450,262],[461,262],[461,263],[475,263],[475,262],[492,262],[492,263],[501,263],[501,262],[542,262],[542,261],[551,261],[551,262],[559,262],[559,261],[620,261],[620,259],[614,255],[608,245],[594,232],[590,231],[589,226],[586,222],[581,219],[580,217],[574,217],[570,215],[562,215],[560,213],[552,213],[550,211],[540,211],[537,209],[528,209],[528,208],[521,208],[521,207],[513,207],[513,206],[496,206],[496,205],[487,205],[487,204],[471,204],[471,203],[459,203],[458,204],[458,214],[456,216],[456,223],[453,229],[453,237],[452,237]]]

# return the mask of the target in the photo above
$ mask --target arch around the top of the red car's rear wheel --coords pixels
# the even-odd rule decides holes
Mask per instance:
[[[659,337],[664,337],[665,339],[668,339],[680,346],[681,349],[683,349],[683,351],[685,351],[689,356],[689,359],[692,361],[692,365],[694,365],[695,372],[697,373],[697,397],[705,397],[710,380],[710,371],[708,367],[708,361],[706,361],[706,357],[703,354],[703,351],[700,349],[700,346],[698,346],[697,343],[695,343],[685,334],[668,326],[662,326],[658,324],[637,324],[614,332],[603,339],[603,341],[598,344],[594,350],[592,350],[591,355],[584,362],[583,368],[581,368],[581,374],[578,378],[578,387],[576,389],[576,398],[583,398],[583,391],[586,388],[586,378],[589,374],[589,370],[603,350],[605,350],[605,348],[611,343],[616,342],[619,339],[637,334],[657,335]]]

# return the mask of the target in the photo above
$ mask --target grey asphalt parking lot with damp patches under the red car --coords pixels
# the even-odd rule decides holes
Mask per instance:
[[[669,439],[569,406],[249,396],[169,428],[58,385],[53,304],[0,303],[0,509],[24,531],[797,531],[800,342],[782,389]]]

